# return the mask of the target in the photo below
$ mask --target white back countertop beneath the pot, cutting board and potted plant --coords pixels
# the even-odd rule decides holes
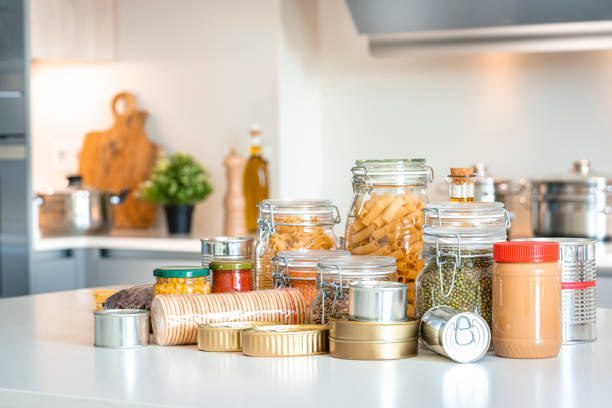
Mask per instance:
[[[34,240],[34,250],[103,248],[135,251],[197,253],[200,238],[189,235],[168,235],[158,230],[113,230],[107,235],[44,237]]]

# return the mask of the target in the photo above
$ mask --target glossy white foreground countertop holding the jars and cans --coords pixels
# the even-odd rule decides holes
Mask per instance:
[[[253,358],[195,346],[94,348],[88,290],[0,300],[3,406],[608,407],[612,309],[594,343],[557,358],[456,364],[421,351],[396,361]],[[80,406],[79,405],[79,406]]]

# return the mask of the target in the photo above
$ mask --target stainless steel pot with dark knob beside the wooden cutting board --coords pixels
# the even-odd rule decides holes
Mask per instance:
[[[82,184],[80,176],[68,178],[64,190],[39,193],[38,226],[42,236],[106,233],[113,227],[112,206],[125,200],[119,194],[96,190]]]

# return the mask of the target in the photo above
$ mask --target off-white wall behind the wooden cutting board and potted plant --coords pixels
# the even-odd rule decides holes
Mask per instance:
[[[207,166],[216,189],[196,208],[194,232],[220,234],[223,156],[248,154],[251,123],[276,163],[278,1],[121,0],[117,17],[117,62],[33,66],[34,188],[63,183],[54,145],[110,127],[110,100],[127,90],[150,114],[151,140]]]

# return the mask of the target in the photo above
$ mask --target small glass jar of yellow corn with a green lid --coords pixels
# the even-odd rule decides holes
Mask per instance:
[[[201,266],[163,266],[153,270],[153,296],[210,293],[210,270]]]

